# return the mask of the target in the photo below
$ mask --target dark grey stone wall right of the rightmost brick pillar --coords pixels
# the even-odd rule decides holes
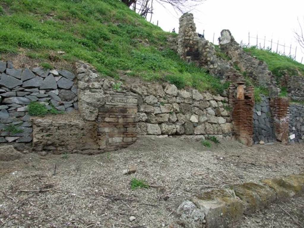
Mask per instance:
[[[289,141],[304,142],[304,105],[289,106]]]

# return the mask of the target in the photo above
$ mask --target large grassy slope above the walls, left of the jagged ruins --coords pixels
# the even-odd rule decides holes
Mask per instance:
[[[219,80],[168,48],[172,34],[117,0],[1,0],[0,5],[0,53],[22,52],[46,63],[83,60],[114,78],[124,71],[179,88],[223,91]]]

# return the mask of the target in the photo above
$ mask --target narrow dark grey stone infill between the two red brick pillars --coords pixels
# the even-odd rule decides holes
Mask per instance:
[[[271,110],[269,106],[269,98],[262,96],[262,101],[256,103],[253,109],[254,120],[254,143],[270,143],[275,141],[275,131]],[[261,142],[262,143],[262,142]]]

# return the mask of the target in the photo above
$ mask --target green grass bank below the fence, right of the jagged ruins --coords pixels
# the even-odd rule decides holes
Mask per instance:
[[[244,48],[244,51],[256,56],[259,60],[263,60],[272,74],[274,74],[278,85],[281,85],[280,82],[284,71],[287,71],[289,75],[298,75],[300,72],[304,76],[304,65],[292,60],[290,57],[255,47]]]

